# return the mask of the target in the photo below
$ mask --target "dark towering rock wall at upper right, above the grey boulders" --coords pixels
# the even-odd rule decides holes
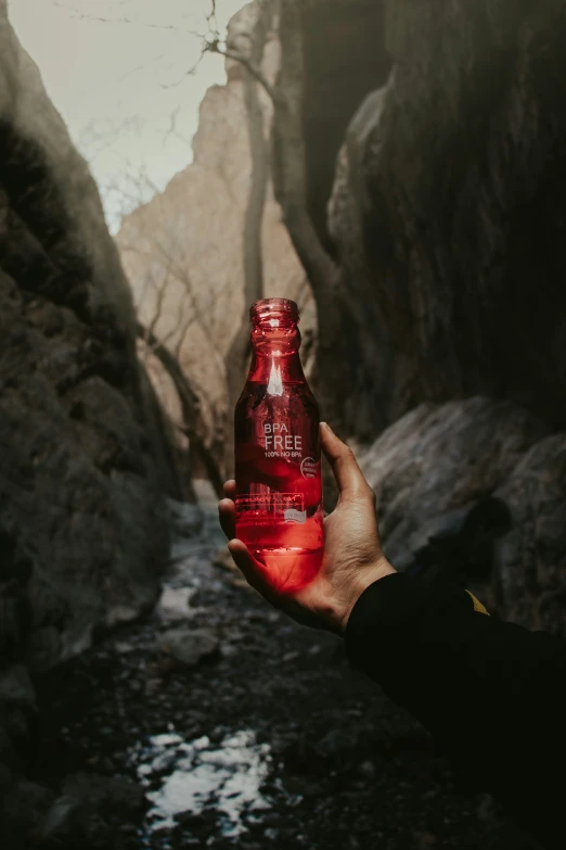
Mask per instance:
[[[381,30],[330,206],[373,416],[485,393],[562,427],[564,4],[404,0]]]

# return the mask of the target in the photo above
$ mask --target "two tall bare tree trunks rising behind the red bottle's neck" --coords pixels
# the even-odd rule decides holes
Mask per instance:
[[[279,0],[279,38],[282,50],[281,66],[275,86],[272,86],[262,74],[261,59],[263,55],[267,27],[261,22],[271,20],[272,4],[275,0],[266,0],[261,3],[258,25],[252,35],[250,52],[243,52],[228,46],[224,55],[240,62],[244,68],[246,79],[262,86],[273,103],[273,151],[272,151],[272,179],[275,198],[281,205],[283,221],[287,228],[297,256],[305,268],[312,289],[318,314],[318,346],[317,365],[313,375],[313,385],[319,397],[323,416],[334,422],[338,428],[344,420],[345,405],[350,391],[348,375],[347,342],[345,333],[345,310],[347,304],[340,297],[339,268],[324,249],[312,221],[307,201],[307,167],[304,137],[304,45],[303,31],[303,0]],[[262,16],[265,15],[265,17]],[[268,17],[269,15],[269,17]],[[218,47],[216,47],[218,50]],[[257,97],[257,86],[256,89]],[[254,148],[258,141],[257,126],[253,120],[254,110],[250,116],[250,141],[253,145],[253,167],[258,170],[253,175],[255,180],[263,179],[263,157]],[[255,131],[253,128],[255,127]],[[261,125],[261,136],[263,130]],[[265,144],[265,139],[263,139]],[[266,169],[267,172],[267,169]],[[267,181],[267,173],[265,179]],[[253,198],[254,187],[250,194]],[[263,196],[265,202],[265,196]],[[250,240],[252,231],[247,228],[258,227],[257,217],[248,208],[246,224],[246,313],[243,317],[242,329],[236,335],[232,348],[228,355],[228,384],[230,413],[236,401],[236,391],[243,382],[245,364],[248,354],[247,343],[247,306],[253,301],[261,297],[253,283],[257,283],[257,266],[252,265],[254,254],[248,254],[248,249],[257,243]],[[259,243],[259,251],[261,246]],[[257,254],[255,255],[257,257]],[[254,274],[254,271],[256,274]],[[250,288],[248,289],[248,283]],[[227,440],[227,468],[232,465],[233,436]]]

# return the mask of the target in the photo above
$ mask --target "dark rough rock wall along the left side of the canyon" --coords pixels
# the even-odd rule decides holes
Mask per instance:
[[[17,790],[34,677],[155,600],[163,493],[178,493],[95,185],[5,0],[0,340],[1,795]]]

